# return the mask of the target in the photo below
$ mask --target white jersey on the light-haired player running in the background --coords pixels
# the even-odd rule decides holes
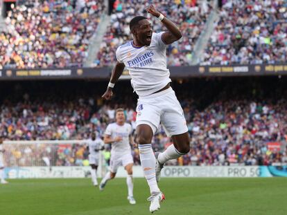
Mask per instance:
[[[132,126],[128,123],[123,124],[122,126],[116,124],[116,122],[109,124],[105,130],[106,135],[110,135],[111,138],[116,138],[120,136],[123,140],[119,142],[112,142],[112,156],[123,155],[125,153],[131,153],[130,148],[130,135],[132,134]]]

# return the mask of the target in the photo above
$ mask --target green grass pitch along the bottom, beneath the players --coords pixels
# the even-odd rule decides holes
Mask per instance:
[[[1,215],[150,214],[146,180],[134,179],[130,205],[125,178],[104,191],[85,179],[21,179],[0,185]],[[287,178],[162,178],[166,200],[155,214],[286,215]]]

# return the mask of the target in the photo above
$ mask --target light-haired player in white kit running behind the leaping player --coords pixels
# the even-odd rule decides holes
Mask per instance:
[[[134,185],[132,181],[132,166],[134,165],[134,160],[130,147],[130,144],[134,145],[134,141],[132,139],[132,126],[125,122],[123,109],[116,109],[116,122],[107,126],[104,142],[106,144],[112,144],[110,172],[107,172],[99,188],[103,190],[107,181],[116,176],[117,169],[122,165],[128,173],[128,201],[134,205],[136,203],[133,195]]]

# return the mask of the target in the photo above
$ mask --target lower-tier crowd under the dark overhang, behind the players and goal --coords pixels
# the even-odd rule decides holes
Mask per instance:
[[[96,86],[89,83],[84,89],[80,85],[73,83],[59,88],[42,84],[38,91],[30,94],[16,85],[14,94],[8,93],[13,97],[6,96],[1,102],[0,134],[6,140],[85,140],[95,131],[102,136],[107,124],[114,121],[114,112],[119,106],[125,109],[127,120],[135,129],[136,102],[126,84],[119,84],[114,100],[107,103],[101,100],[105,83]],[[184,108],[191,135],[191,151],[169,164],[286,163],[286,86],[283,80],[261,82],[252,78],[175,82],[173,87]],[[155,151],[162,151],[171,143],[171,138],[159,128],[153,138]],[[271,148],[270,143],[278,144],[279,148]],[[26,144],[26,147],[8,151],[14,165],[15,162],[17,165],[31,162],[31,154],[33,159],[38,159],[35,161],[38,165],[43,165],[46,157],[52,165],[82,165],[87,159],[87,150],[80,144],[53,147]],[[138,149],[133,149],[132,153],[134,162],[139,164]]]

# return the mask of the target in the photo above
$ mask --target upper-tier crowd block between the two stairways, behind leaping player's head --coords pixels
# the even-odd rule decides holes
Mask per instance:
[[[154,32],[160,32],[165,28],[155,18],[151,18],[146,14],[146,6],[148,1],[115,1],[114,10],[111,15],[110,26],[104,36],[101,49],[98,52],[94,66],[112,66],[116,62],[114,53],[116,48],[126,41],[132,39],[129,23],[130,20],[139,15],[139,12],[153,21]],[[161,11],[177,26],[179,26],[183,37],[168,46],[166,55],[168,57],[168,65],[170,66],[186,66],[191,62],[191,53],[196,40],[200,36],[200,32],[205,28],[205,22],[211,11],[211,7],[207,1],[153,1],[153,5],[157,10]]]

